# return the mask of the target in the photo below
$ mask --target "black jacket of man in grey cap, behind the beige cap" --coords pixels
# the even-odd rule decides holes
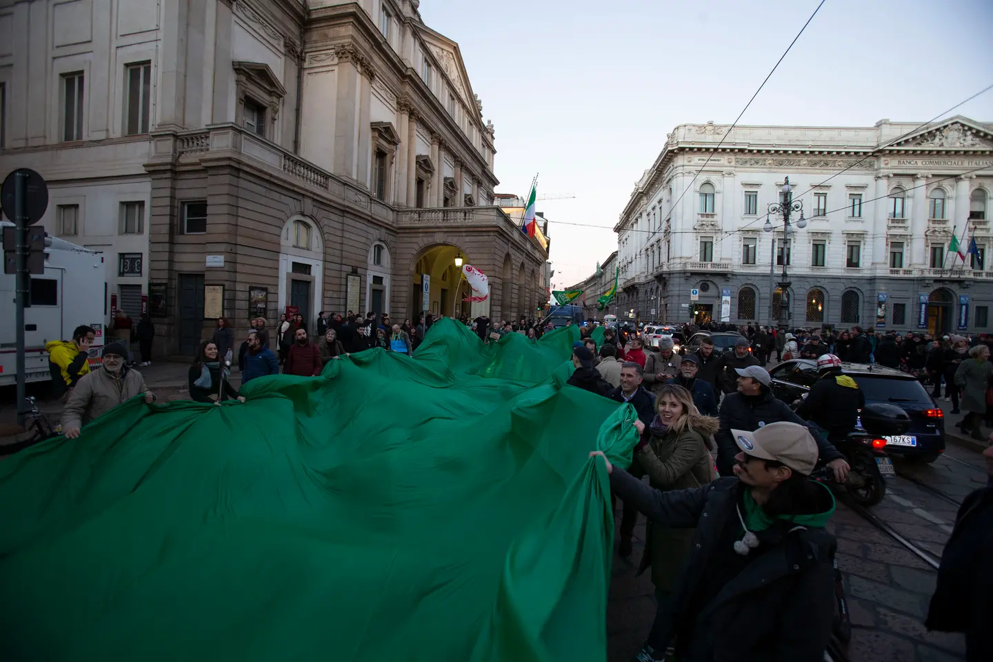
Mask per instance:
[[[806,425],[806,421],[797,416],[793,410],[789,409],[786,403],[777,400],[773,392],[766,390],[762,395],[749,398],[741,393],[732,393],[724,398],[721,403],[721,427],[714,435],[717,442],[717,470],[722,476],[733,475],[732,468],[735,465],[735,456],[740,453],[738,444],[731,436],[732,430],[747,430],[754,432],[770,423],[788,421]],[[762,425],[760,425],[760,423]],[[820,460],[829,463],[843,456],[838,450],[828,444],[819,434],[816,428],[810,428],[813,439],[817,442]]]

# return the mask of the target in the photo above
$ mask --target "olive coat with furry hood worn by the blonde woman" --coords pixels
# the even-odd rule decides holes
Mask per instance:
[[[718,421],[710,416],[687,416],[680,433],[652,434],[648,446],[635,454],[635,462],[648,475],[655,489],[667,491],[701,487],[717,478],[707,450],[707,440],[717,432]],[[648,539],[638,572],[651,566],[651,583],[664,594],[671,593],[679,569],[689,554],[696,528],[673,529],[649,523]]]

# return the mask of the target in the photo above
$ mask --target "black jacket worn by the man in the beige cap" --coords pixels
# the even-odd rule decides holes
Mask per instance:
[[[666,606],[668,617],[658,619],[664,631],[652,636],[666,643],[676,638],[680,662],[819,662],[831,635],[836,548],[823,528],[787,532],[780,526],[768,538],[760,532],[765,553],[763,548],[753,552],[758,553],[755,559],[721,586],[716,597],[694,604],[708,581],[709,562],[727,554],[727,534],[740,539],[736,508],[742,487],[737,478],[722,478],[703,487],[663,492],[614,468],[611,488],[652,522],[696,527]]]

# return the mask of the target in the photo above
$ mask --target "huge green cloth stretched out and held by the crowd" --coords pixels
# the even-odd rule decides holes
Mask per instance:
[[[452,321],[244,404],[134,399],[0,463],[0,660],[597,660],[605,451],[576,327]]]

